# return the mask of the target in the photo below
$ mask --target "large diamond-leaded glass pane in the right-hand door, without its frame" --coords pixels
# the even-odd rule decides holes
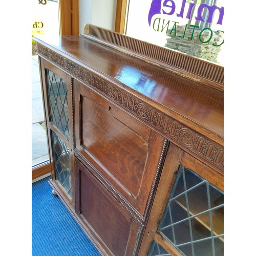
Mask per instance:
[[[223,255],[224,194],[180,166],[158,232],[183,255]]]

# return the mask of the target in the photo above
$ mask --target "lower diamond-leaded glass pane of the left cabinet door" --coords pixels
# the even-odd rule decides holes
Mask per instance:
[[[60,183],[66,193],[72,197],[69,148],[53,131],[52,137],[55,179]]]

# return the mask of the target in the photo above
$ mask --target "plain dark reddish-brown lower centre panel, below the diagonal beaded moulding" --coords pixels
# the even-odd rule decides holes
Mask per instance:
[[[136,221],[129,212],[78,162],[76,189],[77,214],[84,223],[90,225],[97,234],[97,239],[108,247],[110,254],[125,255],[127,249],[133,251],[140,229],[139,223],[133,224]],[[133,234],[132,238],[130,232]]]

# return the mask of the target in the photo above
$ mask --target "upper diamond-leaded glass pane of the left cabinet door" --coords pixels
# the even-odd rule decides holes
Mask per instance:
[[[69,138],[69,106],[67,82],[47,70],[50,119]]]

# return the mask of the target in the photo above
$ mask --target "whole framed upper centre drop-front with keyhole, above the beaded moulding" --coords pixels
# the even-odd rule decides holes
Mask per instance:
[[[102,182],[143,218],[164,138],[85,84],[75,80],[74,88],[75,148],[94,166],[93,175],[102,175]]]

